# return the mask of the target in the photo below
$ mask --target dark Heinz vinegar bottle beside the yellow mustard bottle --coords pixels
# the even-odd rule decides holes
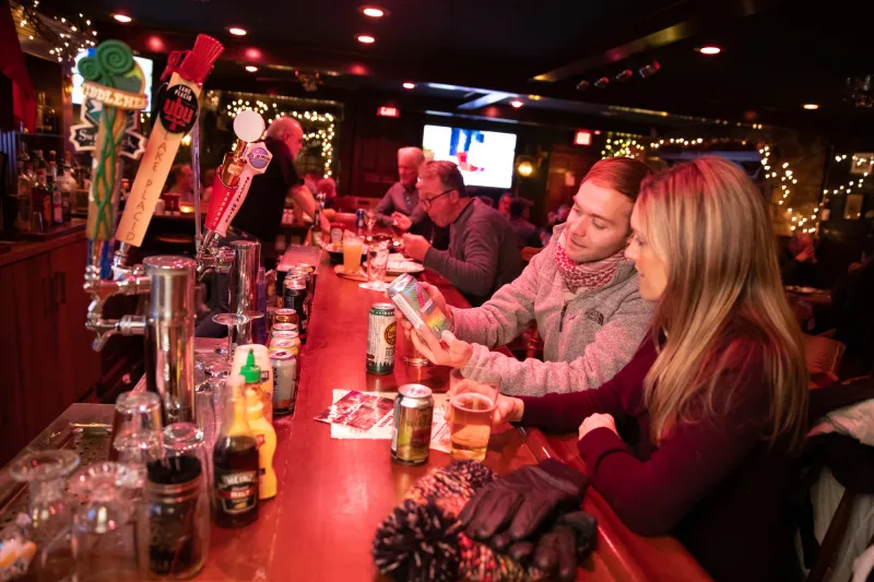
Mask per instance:
[[[244,378],[228,378],[226,389],[227,417],[212,454],[213,519],[220,527],[243,527],[258,519],[258,446],[247,419]]]

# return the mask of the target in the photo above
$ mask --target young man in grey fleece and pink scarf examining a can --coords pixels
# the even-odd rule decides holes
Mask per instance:
[[[423,353],[435,364],[495,370],[505,394],[571,392],[613,378],[631,359],[654,311],[640,297],[634,263],[623,257],[640,182],[651,174],[627,157],[592,166],[567,224],[556,226],[522,275],[479,309],[446,307],[440,292],[423,283],[454,334],[448,349],[422,346]],[[545,361],[489,351],[518,337],[532,320]]]

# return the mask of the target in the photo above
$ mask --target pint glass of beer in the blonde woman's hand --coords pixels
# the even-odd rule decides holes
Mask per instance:
[[[452,461],[485,459],[499,391],[500,376],[485,368],[457,368],[449,375]]]

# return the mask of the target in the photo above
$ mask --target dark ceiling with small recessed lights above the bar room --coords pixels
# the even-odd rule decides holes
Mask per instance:
[[[532,110],[565,115],[621,106],[654,110],[653,119],[663,111],[829,129],[874,121],[874,111],[847,100],[846,87],[850,75],[874,74],[871,0],[374,0],[388,12],[379,20],[361,14],[363,2],[343,0],[43,3],[87,11],[103,38],[119,37],[144,51],[188,48],[193,34],[211,34],[227,47],[215,80],[247,82],[252,91],[259,83],[293,83],[294,70],[302,70],[319,71],[324,91],[402,94],[400,84],[412,81],[416,92],[454,107],[503,92],[497,102],[520,95]],[[116,11],[133,23],[114,23]],[[228,26],[249,34],[234,37]],[[359,44],[363,33],[376,43]],[[708,58],[695,50],[709,43],[722,54]],[[659,72],[640,78],[637,71],[652,60]],[[261,70],[246,73],[247,63]],[[575,88],[581,80],[613,80],[626,68],[635,71],[627,83]],[[805,103],[820,109],[805,111]]]

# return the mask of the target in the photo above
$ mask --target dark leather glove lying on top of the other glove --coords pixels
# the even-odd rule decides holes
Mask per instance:
[[[479,541],[488,541],[509,525],[492,544],[504,549],[534,533],[559,507],[579,510],[588,484],[586,475],[547,459],[503,475],[480,489],[459,520],[466,534]]]

